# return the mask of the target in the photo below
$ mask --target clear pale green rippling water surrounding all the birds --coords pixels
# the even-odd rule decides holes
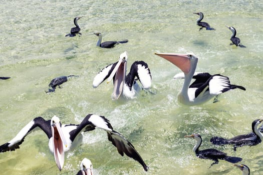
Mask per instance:
[[[211,136],[232,137],[248,133],[251,122],[262,118],[263,104],[263,2],[225,0],[2,0],[0,76],[0,144],[11,140],[37,116],[60,117],[62,123],[80,123],[89,113],[106,116],[115,130],[129,139],[146,164],[120,156],[104,131],[85,134],[84,144],[70,152],[60,172],[44,132],[28,135],[20,149],[0,153],[3,174],[75,174],[83,157],[91,159],[95,174],[241,174],[226,161],[208,168],[211,160],[199,159],[192,148],[193,132],[203,137],[201,149],[217,148],[243,158],[252,174],[262,174],[262,143],[234,152],[230,145],[215,146]],[[198,16],[216,30],[199,31]],[[81,37],[65,37],[79,20]],[[246,48],[229,45],[233,25]],[[112,49],[96,47],[103,40],[129,39]],[[141,92],[134,100],[112,100],[112,84],[92,87],[104,66],[128,52],[128,69],[135,60],[148,63],[156,94]],[[196,71],[221,73],[246,91],[232,90],[198,106],[177,102],[183,81],[180,72],[154,52],[193,52],[199,57]],[[76,74],[55,93],[46,94],[51,79]]]

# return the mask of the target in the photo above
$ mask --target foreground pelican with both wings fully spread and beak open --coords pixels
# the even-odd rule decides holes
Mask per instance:
[[[109,141],[117,147],[118,152],[123,156],[124,153],[137,160],[144,168],[148,166],[144,163],[140,154],[136,151],[130,141],[120,133],[113,130],[111,123],[104,116],[88,114],[80,124],[61,124],[59,117],[54,115],[51,120],[45,120],[41,116],[30,121],[12,140],[0,146],[0,152],[12,151],[20,148],[20,144],[25,137],[35,128],[41,128],[49,138],[49,149],[54,154],[55,161],[59,170],[64,165],[64,152],[76,148],[82,143],[83,133],[94,130],[96,127],[107,132]]]

